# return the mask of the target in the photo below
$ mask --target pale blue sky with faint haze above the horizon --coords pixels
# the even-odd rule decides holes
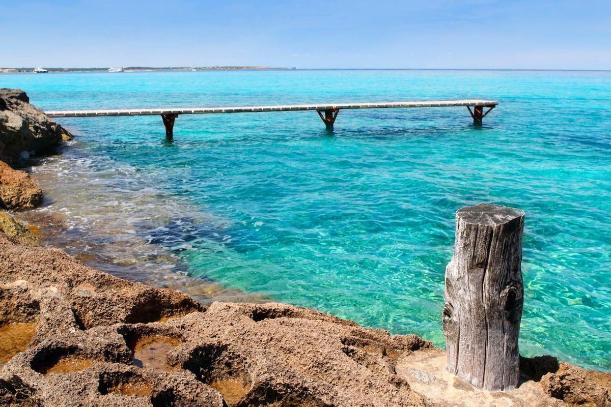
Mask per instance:
[[[611,69],[611,1],[0,0],[0,67]]]

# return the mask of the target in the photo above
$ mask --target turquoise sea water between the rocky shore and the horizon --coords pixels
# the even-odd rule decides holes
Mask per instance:
[[[78,138],[32,168],[47,206],[29,216],[60,217],[65,232],[53,242],[95,253],[84,261],[100,268],[111,259],[110,271],[134,279],[192,286],[174,278],[186,273],[218,284],[214,298],[271,298],[442,345],[456,210],[519,207],[527,214],[521,353],[611,370],[609,72],[0,81],[45,109],[497,99],[481,129],[462,108],[342,111],[333,135],[315,112],[183,115],[174,144],[164,142],[159,117],[60,119]]]

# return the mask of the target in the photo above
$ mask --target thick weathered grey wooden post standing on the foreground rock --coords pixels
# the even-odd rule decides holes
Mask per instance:
[[[524,212],[479,204],[456,212],[445,269],[447,370],[490,391],[518,385]]]

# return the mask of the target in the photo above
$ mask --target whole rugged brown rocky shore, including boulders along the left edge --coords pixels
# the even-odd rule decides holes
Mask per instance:
[[[42,203],[12,165],[69,137],[24,92],[0,90],[3,209]],[[506,392],[444,368],[444,351],[415,335],[285,304],[206,307],[125,281],[0,211],[0,405],[611,406],[611,374],[551,356],[523,358]]]

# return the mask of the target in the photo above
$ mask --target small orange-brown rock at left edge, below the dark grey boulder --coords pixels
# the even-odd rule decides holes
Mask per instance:
[[[42,190],[26,171],[0,160],[0,201],[5,209],[31,209],[42,203]]]

